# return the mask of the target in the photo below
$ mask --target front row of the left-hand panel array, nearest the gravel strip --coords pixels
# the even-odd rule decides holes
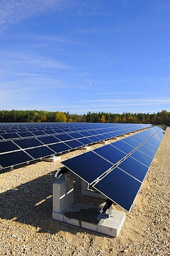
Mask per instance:
[[[64,133],[58,135],[39,136],[36,138],[21,138],[1,141],[0,168],[4,169],[6,167],[30,162],[43,157],[61,154],[65,151],[90,145],[101,140],[111,139],[118,135],[133,131],[138,125],[134,125],[133,130],[132,128],[129,128],[129,124],[124,126],[126,127],[125,130],[107,133],[104,133],[104,129],[98,129],[90,132],[80,131],[79,133]],[[141,128],[143,125],[138,127]],[[6,133],[5,135],[9,134],[10,133]]]

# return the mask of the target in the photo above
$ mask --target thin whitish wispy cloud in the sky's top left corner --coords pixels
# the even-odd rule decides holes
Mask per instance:
[[[2,0],[0,2],[0,31],[22,20],[37,17],[48,11],[66,8],[70,0]]]

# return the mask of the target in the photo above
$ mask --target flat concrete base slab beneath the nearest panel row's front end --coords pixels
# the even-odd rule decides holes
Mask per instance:
[[[112,210],[111,217],[105,218],[100,209],[99,206],[76,203],[65,212],[53,211],[53,219],[117,237],[125,221],[125,212]]]

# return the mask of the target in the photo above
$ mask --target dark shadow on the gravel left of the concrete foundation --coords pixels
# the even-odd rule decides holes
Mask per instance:
[[[56,171],[23,183],[0,194],[0,218],[31,225],[38,233],[56,234],[67,231],[72,234],[95,232],[53,220],[53,182]],[[40,229],[39,229],[40,228]],[[104,236],[95,233],[98,236]],[[109,236],[108,236],[109,237]]]

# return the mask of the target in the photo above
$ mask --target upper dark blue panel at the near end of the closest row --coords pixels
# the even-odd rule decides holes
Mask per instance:
[[[63,161],[62,164],[89,184],[112,167],[112,164],[92,151]]]

